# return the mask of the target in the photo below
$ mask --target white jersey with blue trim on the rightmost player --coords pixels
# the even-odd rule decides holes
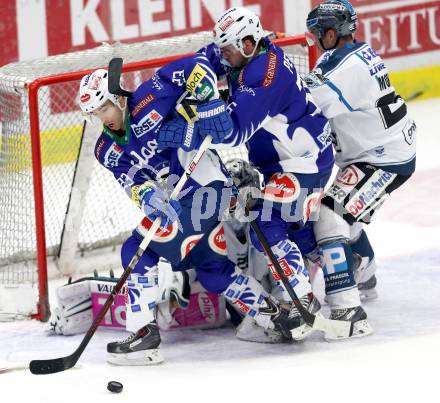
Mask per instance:
[[[338,166],[367,162],[404,175],[414,171],[415,123],[368,44],[325,52],[306,83],[330,120]]]

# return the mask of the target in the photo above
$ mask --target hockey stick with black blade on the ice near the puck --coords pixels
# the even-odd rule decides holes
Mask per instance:
[[[188,178],[191,176],[191,174],[196,169],[198,163],[200,162],[200,159],[205,154],[205,151],[209,148],[211,145],[211,136],[206,136],[206,138],[203,140],[199,150],[197,151],[196,155],[192,159],[192,161],[189,163],[188,167],[186,168],[185,172],[179,179],[179,181],[176,184],[176,187],[174,188],[173,192],[170,195],[170,199],[175,199],[180,191],[182,190],[183,186],[185,185]],[[105,304],[102,306],[101,310],[99,311],[98,315],[96,316],[95,320],[91,324],[89,330],[87,331],[86,335],[84,336],[81,344],[79,347],[67,357],[62,358],[54,358],[49,360],[33,360],[29,364],[29,369],[31,372],[35,375],[43,375],[43,374],[53,374],[55,372],[61,372],[65,371],[66,369],[72,368],[75,366],[76,362],[78,361],[79,357],[85,350],[87,344],[89,344],[90,339],[93,337],[93,335],[96,332],[96,329],[101,323],[102,319],[104,318],[105,314],[109,310],[111,304],[113,303],[113,300],[115,296],[119,293],[123,285],[125,284],[125,281],[127,280],[128,276],[136,266],[136,264],[139,262],[139,259],[141,258],[142,254],[147,249],[148,244],[153,239],[157,229],[160,225],[160,217],[156,218],[151,226],[151,228],[148,230],[148,233],[145,235],[144,239],[142,240],[141,244],[139,245],[138,250],[136,251],[136,254],[132,257],[130,263],[128,264],[127,268],[122,273],[122,276],[120,277],[119,281],[114,286],[112,292],[108,296],[107,300],[105,301]]]

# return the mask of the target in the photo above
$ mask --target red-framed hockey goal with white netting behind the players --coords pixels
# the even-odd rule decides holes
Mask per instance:
[[[84,130],[76,104],[81,77],[118,56],[124,86],[133,90],[211,41],[200,32],[104,44],[0,69],[0,320],[48,320],[48,278],[119,268],[118,247],[142,218],[93,158],[99,133]],[[277,42],[302,75],[316,61],[304,36]],[[236,155],[247,158],[243,149],[223,157]]]

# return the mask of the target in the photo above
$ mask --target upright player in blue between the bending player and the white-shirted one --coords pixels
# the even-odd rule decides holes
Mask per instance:
[[[309,215],[330,177],[334,162],[330,126],[292,60],[263,33],[254,13],[234,7],[215,24],[215,42],[200,51],[218,76],[227,76],[229,84],[233,130],[218,139],[217,148],[246,144],[250,161],[266,183],[252,213],[301,303],[316,313],[319,302],[288,231],[292,225],[310,225]],[[212,123],[205,116],[199,113],[197,122],[202,136]],[[263,252],[253,233],[252,241]],[[283,296],[290,301],[284,289]],[[291,316],[300,317],[296,307]],[[309,330],[302,323],[292,336],[304,338]]]

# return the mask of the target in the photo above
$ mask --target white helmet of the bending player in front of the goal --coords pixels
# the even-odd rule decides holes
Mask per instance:
[[[107,70],[95,70],[81,79],[78,103],[84,113],[95,111],[108,100],[118,105],[118,99],[118,95],[111,94],[108,90]]]

